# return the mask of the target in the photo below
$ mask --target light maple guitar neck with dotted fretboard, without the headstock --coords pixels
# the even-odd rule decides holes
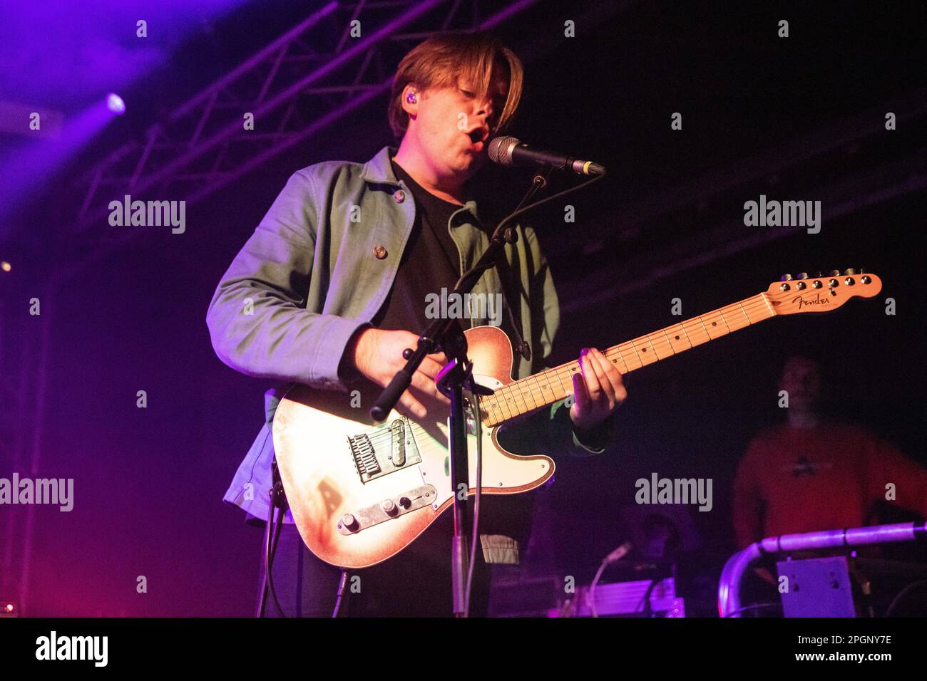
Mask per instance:
[[[633,372],[775,315],[767,294],[761,293],[685,322],[671,324],[653,334],[619,343],[605,349],[603,354],[618,371]],[[580,371],[578,361],[567,362],[505,385],[489,397],[482,397],[480,408],[486,425],[498,425],[572,395],[573,374]]]

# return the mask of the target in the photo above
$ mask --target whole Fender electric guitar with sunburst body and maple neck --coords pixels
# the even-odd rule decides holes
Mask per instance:
[[[782,279],[756,296],[603,354],[620,372],[633,372],[770,317],[828,312],[882,290],[879,277],[853,270]],[[497,441],[499,426],[572,394],[578,362],[515,381],[512,344],[500,329],[478,326],[464,333],[477,383],[494,391],[479,397],[483,494],[517,494],[543,485],[553,474],[553,461],[506,451]],[[380,390],[370,383],[351,395],[295,384],[273,418],[273,448],[299,534],[312,553],[339,567],[386,561],[451,505],[447,415],[416,422],[393,410],[375,424],[368,408]],[[472,429],[467,445],[469,479],[476,480]]]

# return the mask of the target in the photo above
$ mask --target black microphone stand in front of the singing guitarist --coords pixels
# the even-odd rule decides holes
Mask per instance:
[[[489,238],[489,247],[470,270],[454,285],[451,293],[467,294],[473,290],[484,271],[496,266],[496,257],[506,244],[514,244],[518,233],[514,227],[505,227],[511,222],[518,209],[541,187],[546,186],[547,176],[552,166],[544,165],[532,178],[527,195],[518,204],[518,208],[505,218]],[[412,377],[426,355],[440,349],[448,358],[448,363],[435,377],[435,385],[446,397],[451,399],[451,419],[449,426],[449,449],[451,460],[451,491],[453,492],[454,535],[451,539],[451,580],[453,589],[454,614],[458,617],[468,611],[466,597],[466,575],[469,570],[467,541],[464,522],[468,508],[469,457],[466,445],[466,415],[464,413],[464,387],[473,395],[492,395],[493,391],[473,380],[473,363],[466,356],[466,336],[460,324],[451,319],[437,319],[428,325],[425,332],[418,337],[418,344],[413,350],[407,347],[402,351],[405,366],[396,372],[392,381],[377,398],[370,410],[375,422],[386,420],[389,412],[396,406],[402,393],[412,384]],[[478,418],[478,416],[477,416]],[[461,487],[463,485],[463,488]],[[463,498],[461,489],[464,490]],[[476,489],[476,494],[481,490]]]

